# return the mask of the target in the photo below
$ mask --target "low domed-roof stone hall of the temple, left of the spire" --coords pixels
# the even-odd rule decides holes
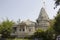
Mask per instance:
[[[30,20],[22,21],[18,25],[13,26],[11,35],[16,37],[29,37],[35,32],[35,22]]]

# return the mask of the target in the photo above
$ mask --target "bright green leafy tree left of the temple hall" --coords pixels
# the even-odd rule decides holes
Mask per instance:
[[[0,34],[2,34],[2,38],[8,38],[10,36],[10,33],[12,32],[13,24],[14,24],[14,22],[9,21],[8,19],[4,20],[0,24]]]

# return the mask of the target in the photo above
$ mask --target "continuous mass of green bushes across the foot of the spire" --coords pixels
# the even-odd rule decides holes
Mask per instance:
[[[43,31],[41,29],[38,29],[33,36],[33,38],[42,38],[43,40],[53,40],[53,34],[54,30],[52,27],[50,27],[48,30]]]

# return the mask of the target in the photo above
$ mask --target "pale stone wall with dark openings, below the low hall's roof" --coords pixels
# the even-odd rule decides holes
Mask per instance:
[[[13,28],[15,28],[15,27],[13,27]],[[22,26],[16,26],[15,32],[12,32],[11,35],[13,35],[13,36],[16,35],[16,37],[26,37],[29,35],[33,35],[34,32],[35,32],[35,26],[22,25]]]

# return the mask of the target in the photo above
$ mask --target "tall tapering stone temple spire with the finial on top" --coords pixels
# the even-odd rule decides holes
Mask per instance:
[[[43,6],[40,10],[39,16],[36,20],[36,28],[46,30],[49,27],[49,17],[45,11],[45,1],[43,1]]]

